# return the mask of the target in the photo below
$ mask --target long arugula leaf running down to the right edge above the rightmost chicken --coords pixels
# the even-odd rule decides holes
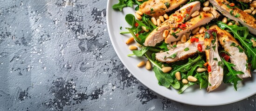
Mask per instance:
[[[229,29],[230,31],[233,32],[234,37],[239,40],[240,43],[242,43],[242,47],[244,51],[246,52],[248,57],[251,57],[251,64],[252,68],[256,69],[256,48],[252,47],[252,43],[249,42],[250,38],[253,37],[249,34],[249,29],[247,27],[240,27],[237,25],[226,25],[223,22],[216,22],[216,24],[221,28],[221,29]],[[249,36],[249,39],[247,38]]]

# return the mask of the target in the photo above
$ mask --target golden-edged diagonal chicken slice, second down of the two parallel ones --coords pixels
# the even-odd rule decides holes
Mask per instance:
[[[194,28],[208,24],[212,19],[218,18],[220,14],[211,7],[210,12],[201,11],[198,16],[188,20],[180,27],[172,28],[169,35],[165,38],[166,43],[179,41],[181,36]]]

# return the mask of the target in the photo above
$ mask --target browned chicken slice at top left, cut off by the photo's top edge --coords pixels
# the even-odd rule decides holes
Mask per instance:
[[[148,0],[139,6],[139,11],[152,17],[159,17],[186,2],[187,0]]]

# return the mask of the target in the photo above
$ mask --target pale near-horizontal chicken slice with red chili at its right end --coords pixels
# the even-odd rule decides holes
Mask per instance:
[[[197,37],[197,38],[196,38]],[[194,40],[196,41],[194,41]],[[191,41],[193,43],[191,43]],[[200,44],[200,45],[198,45]],[[204,34],[196,34],[186,43],[182,43],[177,45],[176,47],[172,47],[169,51],[156,53],[156,59],[160,62],[176,62],[180,60],[187,59],[190,56],[193,56],[197,51],[199,51],[200,47],[203,52],[205,49],[204,45]]]

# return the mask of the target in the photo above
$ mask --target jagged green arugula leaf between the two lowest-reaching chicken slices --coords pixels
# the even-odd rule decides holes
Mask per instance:
[[[233,68],[235,65],[229,62],[226,62],[223,58],[221,58],[222,62],[224,63],[225,66],[228,68],[228,82],[232,82],[234,84],[234,88],[237,91],[237,81],[242,80],[240,79],[236,74],[244,74],[242,71],[235,71]]]

